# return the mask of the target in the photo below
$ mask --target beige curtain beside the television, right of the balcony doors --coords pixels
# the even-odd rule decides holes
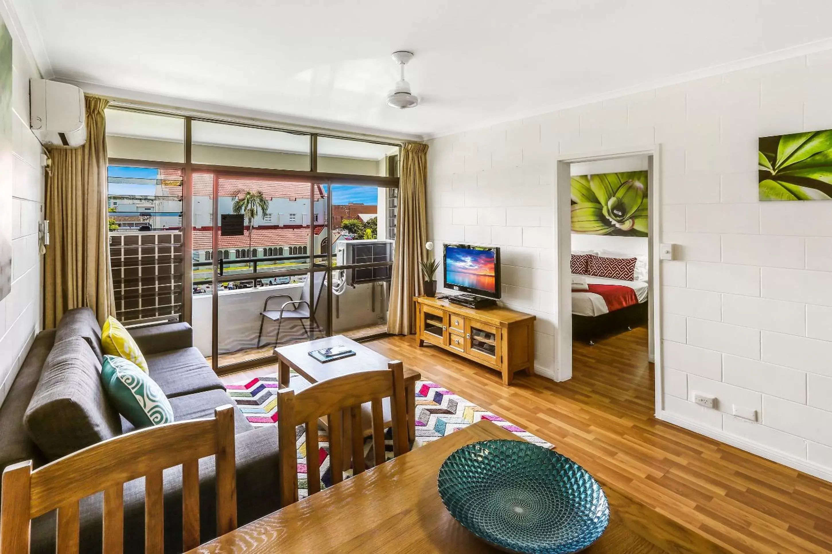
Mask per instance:
[[[423,277],[419,263],[427,259],[425,184],[428,179],[428,145],[411,143],[402,150],[399,179],[399,213],[393,279],[390,282],[390,310],[387,331],[396,335],[416,332],[414,297],[422,294]]]

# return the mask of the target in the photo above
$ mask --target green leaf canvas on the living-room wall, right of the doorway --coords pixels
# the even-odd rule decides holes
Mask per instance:
[[[760,139],[760,200],[832,200],[832,130]]]

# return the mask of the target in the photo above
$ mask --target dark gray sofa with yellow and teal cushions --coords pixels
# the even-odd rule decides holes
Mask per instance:
[[[234,404],[193,347],[191,326],[173,323],[131,331],[151,377],[168,396],[176,420],[210,417]],[[101,327],[92,310],[68,311],[57,329],[39,333],[0,406],[0,469],[31,459],[37,468],[132,425],[103,393]],[[240,525],[280,507],[277,429],[255,429],[235,406],[237,513]],[[201,535],[215,537],[214,459],[200,460]],[[81,503],[81,552],[101,552],[102,495]],[[144,480],[124,487],[124,552],[144,552]],[[165,471],[166,552],[181,552],[181,468]],[[55,552],[55,514],[32,522],[32,552]]]

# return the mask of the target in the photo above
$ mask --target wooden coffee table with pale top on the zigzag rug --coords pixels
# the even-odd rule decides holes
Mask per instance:
[[[326,364],[320,363],[309,355],[310,351],[329,348],[331,346],[347,346],[355,351],[355,355],[341,360],[330,361]],[[364,345],[359,344],[343,335],[328,336],[316,341],[299,342],[294,345],[280,346],[275,348],[277,355],[280,385],[289,385],[289,370],[295,370],[310,383],[319,383],[327,379],[360,373],[362,371],[386,370],[389,362],[393,361],[371,351]],[[408,440],[413,441],[416,437],[416,381],[422,378],[418,371],[404,368],[404,395],[407,399],[408,411]],[[349,425],[344,425],[348,429]],[[349,440],[344,440],[344,445],[349,445]],[[350,456],[344,456],[344,463],[349,463]]]

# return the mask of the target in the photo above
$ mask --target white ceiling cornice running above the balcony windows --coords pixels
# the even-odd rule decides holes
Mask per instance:
[[[421,135],[409,133],[397,133],[395,131],[362,127],[360,125],[345,125],[337,121],[314,120],[310,118],[297,117],[295,115],[277,114],[262,110],[250,110],[231,105],[212,104],[210,102],[192,101],[184,98],[157,95],[146,91],[127,91],[112,86],[99,85],[86,81],[75,81],[58,77],[56,81],[69,83],[81,88],[82,91],[92,95],[106,96],[113,101],[126,104],[146,105],[170,110],[182,115],[206,115],[219,118],[234,118],[236,120],[248,120],[253,123],[267,125],[283,125],[295,130],[317,131],[317,132],[339,132],[345,135],[375,140],[396,140],[416,141],[423,140]]]

